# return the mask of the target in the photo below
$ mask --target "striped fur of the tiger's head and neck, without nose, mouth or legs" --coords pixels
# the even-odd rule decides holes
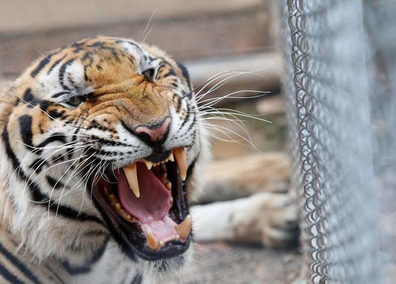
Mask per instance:
[[[186,147],[194,198],[207,140],[192,91],[164,52],[104,36],[49,52],[2,90],[0,283],[139,283],[182,267],[190,250],[155,262],[121,253],[89,182],[149,155],[132,129],[169,116],[163,147]]]

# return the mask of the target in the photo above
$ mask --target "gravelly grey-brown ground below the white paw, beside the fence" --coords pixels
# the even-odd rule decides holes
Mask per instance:
[[[195,265],[174,283],[290,284],[298,278],[301,260],[297,248],[198,244]]]

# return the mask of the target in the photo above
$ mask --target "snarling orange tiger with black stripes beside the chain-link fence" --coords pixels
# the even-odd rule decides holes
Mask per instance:
[[[216,215],[250,224],[242,207],[197,205],[210,145],[195,91],[164,51],[108,36],[44,54],[1,90],[0,283],[156,283],[191,264],[196,239],[224,238]],[[287,207],[241,204],[272,201]]]

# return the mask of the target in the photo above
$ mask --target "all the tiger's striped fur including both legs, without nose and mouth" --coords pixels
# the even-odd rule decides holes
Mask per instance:
[[[155,261],[126,251],[92,193],[106,170],[152,154],[134,129],[166,119],[161,147],[185,147],[182,194],[196,200],[209,155],[200,118],[186,68],[155,47],[99,36],[33,62],[0,90],[0,283],[136,284],[178,273],[191,248]],[[194,206],[196,239],[295,239],[296,208],[279,193],[287,157],[237,158],[212,171],[204,199],[239,199]]]

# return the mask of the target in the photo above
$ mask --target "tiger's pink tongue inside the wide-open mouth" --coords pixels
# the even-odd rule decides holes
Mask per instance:
[[[154,170],[155,168],[153,168]],[[143,224],[167,220],[171,207],[171,194],[152,170],[144,163],[137,163],[137,175],[140,197],[137,198],[129,187],[123,170],[116,173],[118,178],[118,194],[122,206],[129,214],[135,216]],[[157,223],[157,222],[154,222]],[[164,225],[167,222],[164,223]],[[173,223],[173,222],[172,222]],[[173,228],[172,228],[173,229]],[[172,230],[173,231],[173,230]]]

